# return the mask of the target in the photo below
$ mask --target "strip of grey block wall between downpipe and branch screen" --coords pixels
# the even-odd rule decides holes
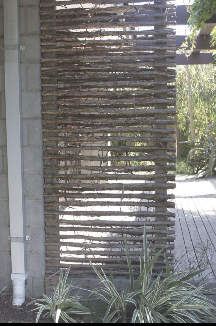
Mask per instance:
[[[19,1],[28,297],[43,294],[45,274],[39,2]]]

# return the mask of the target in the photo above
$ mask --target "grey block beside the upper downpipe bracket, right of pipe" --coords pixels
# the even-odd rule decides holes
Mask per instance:
[[[25,46],[25,51],[20,52],[21,63],[40,62],[40,36],[21,35],[20,44]]]

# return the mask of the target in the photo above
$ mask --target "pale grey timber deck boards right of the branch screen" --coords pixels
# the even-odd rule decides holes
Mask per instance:
[[[216,176],[177,175],[174,193],[176,266],[206,268],[204,280],[216,282]]]

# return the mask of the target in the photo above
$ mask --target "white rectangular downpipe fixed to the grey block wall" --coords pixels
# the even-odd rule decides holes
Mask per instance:
[[[26,234],[22,154],[19,0],[4,0],[5,95],[13,304],[25,301]]]

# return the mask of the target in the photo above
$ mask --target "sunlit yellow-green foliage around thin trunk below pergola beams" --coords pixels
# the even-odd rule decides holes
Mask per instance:
[[[195,138],[201,138],[205,128],[216,122],[216,67],[210,65],[189,66]],[[190,140],[189,97],[187,73],[184,66],[177,67],[177,123]]]

